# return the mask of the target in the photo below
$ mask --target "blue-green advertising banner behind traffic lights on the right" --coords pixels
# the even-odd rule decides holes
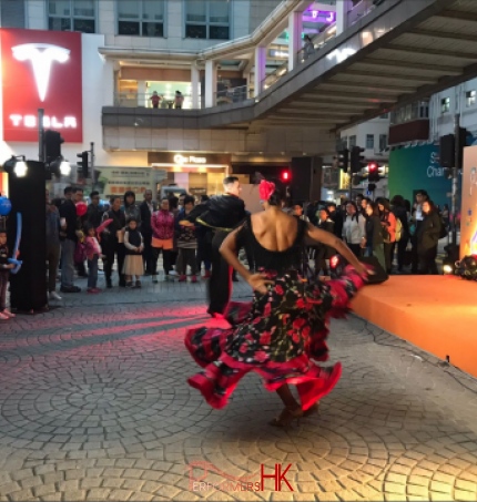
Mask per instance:
[[[436,145],[393,150],[389,153],[389,198],[403,195],[413,204],[415,192],[425,189],[435,204],[450,206],[447,195],[451,191],[451,181],[446,177],[438,157],[439,148]]]

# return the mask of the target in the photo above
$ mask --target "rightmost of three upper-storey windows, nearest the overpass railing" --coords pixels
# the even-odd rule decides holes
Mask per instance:
[[[187,39],[230,39],[229,0],[184,0]]]

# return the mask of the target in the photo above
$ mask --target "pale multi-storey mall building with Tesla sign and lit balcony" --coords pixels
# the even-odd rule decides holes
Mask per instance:
[[[11,154],[38,160],[41,107],[45,129],[64,137],[62,154],[72,165],[94,143],[97,181],[119,180],[110,191],[121,191],[121,183],[141,191],[140,171],[136,182],[126,178],[131,168],[148,167],[154,183],[216,193],[226,173],[248,183],[256,171],[280,176],[300,157],[315,167],[319,192],[323,155],[335,151],[335,134],[308,125],[301,110],[274,124],[245,113],[221,126],[214,114],[244,113],[244,102],[254,105],[309,50],[343,30],[335,3],[3,0],[1,161]],[[353,8],[338,2],[338,10],[341,3]]]

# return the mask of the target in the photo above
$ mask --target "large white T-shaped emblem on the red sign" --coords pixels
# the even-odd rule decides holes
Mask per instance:
[[[47,98],[53,62],[64,63],[70,59],[70,51],[50,43],[22,43],[11,48],[17,61],[30,61],[33,66],[38,96],[43,102]]]

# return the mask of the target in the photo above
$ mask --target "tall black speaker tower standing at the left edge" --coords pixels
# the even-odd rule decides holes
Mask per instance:
[[[12,211],[8,221],[8,242],[12,250],[17,236],[17,214],[21,214],[20,256],[18,274],[10,274],[10,304],[20,311],[44,308],[47,298],[47,225],[44,198],[44,164],[28,161],[24,177],[9,175],[9,198]]]

